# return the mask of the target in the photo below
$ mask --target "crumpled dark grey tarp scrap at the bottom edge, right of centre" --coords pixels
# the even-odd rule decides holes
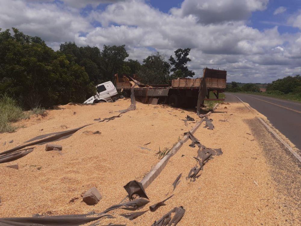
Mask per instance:
[[[172,213],[174,213],[173,217],[172,217]],[[182,219],[184,213],[185,213],[185,209],[183,208],[183,206],[175,207],[174,209],[166,213],[158,221],[155,221],[154,224],[152,224],[151,226],[161,226],[161,225],[175,226]]]

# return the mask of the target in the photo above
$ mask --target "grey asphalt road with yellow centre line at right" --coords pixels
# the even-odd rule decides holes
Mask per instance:
[[[233,95],[265,115],[276,129],[301,150],[300,102],[242,93],[226,93],[225,102],[239,102]]]

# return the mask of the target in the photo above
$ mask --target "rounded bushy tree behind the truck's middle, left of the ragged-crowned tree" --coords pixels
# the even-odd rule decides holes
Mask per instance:
[[[165,61],[165,55],[159,52],[151,54],[143,60],[138,71],[141,82],[144,84],[164,84],[170,72],[170,64]]]

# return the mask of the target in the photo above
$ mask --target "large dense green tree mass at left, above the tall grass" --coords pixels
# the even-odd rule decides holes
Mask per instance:
[[[39,37],[0,30],[0,93],[25,108],[83,102],[95,93],[83,67]]]

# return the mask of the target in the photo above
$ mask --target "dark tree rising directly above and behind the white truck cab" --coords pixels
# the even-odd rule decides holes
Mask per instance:
[[[101,52],[101,74],[104,81],[114,80],[116,74],[123,67],[123,61],[129,56],[126,52],[125,45],[106,46]]]

